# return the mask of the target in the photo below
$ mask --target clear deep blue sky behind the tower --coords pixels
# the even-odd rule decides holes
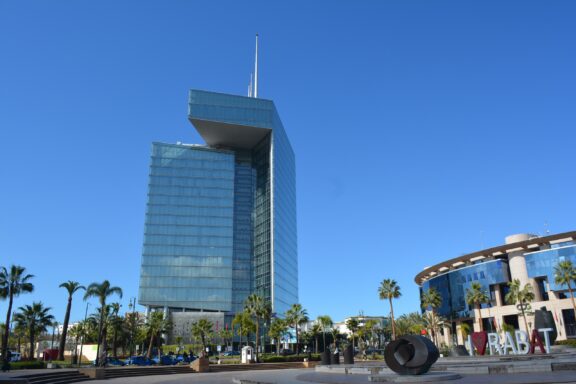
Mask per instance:
[[[576,228],[576,2],[0,2],[0,265],[137,295],[152,141],[189,88],[261,97],[297,157],[310,315],[418,309],[425,266]],[[4,316],[6,302],[0,302]],[[93,304],[94,306],[94,304]],[[76,297],[73,320],[83,317]]]

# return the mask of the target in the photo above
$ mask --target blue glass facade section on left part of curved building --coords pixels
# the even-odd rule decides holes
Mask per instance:
[[[447,319],[469,318],[474,311],[466,303],[466,290],[473,282],[480,283],[486,294],[490,292],[490,285],[504,284],[509,281],[508,263],[503,260],[492,260],[459,268],[422,284],[422,291],[431,287],[438,290],[442,297],[442,304],[437,313]],[[487,304],[483,304],[486,307]],[[473,308],[472,308],[473,309]]]

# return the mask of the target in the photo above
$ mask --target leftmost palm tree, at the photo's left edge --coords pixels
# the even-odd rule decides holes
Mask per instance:
[[[2,360],[3,365],[8,364],[8,335],[10,335],[10,315],[12,314],[12,304],[14,298],[21,293],[32,292],[34,285],[30,279],[34,275],[24,274],[26,268],[19,265],[12,265],[10,272],[5,267],[0,268],[0,298],[8,299],[8,311],[6,312],[6,323],[4,334],[2,335]]]

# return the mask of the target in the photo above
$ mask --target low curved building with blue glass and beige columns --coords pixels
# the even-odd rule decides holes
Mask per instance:
[[[533,311],[545,307],[554,316],[558,340],[564,340],[576,338],[576,319],[567,286],[554,282],[554,267],[563,260],[576,265],[576,231],[544,237],[517,234],[506,237],[503,245],[426,267],[415,281],[421,294],[433,287],[442,296],[437,313],[448,320],[442,330],[447,344],[463,343],[462,323],[480,329],[477,311],[466,303],[466,291],[474,282],[480,283],[490,298],[481,309],[484,330],[497,332],[503,324],[524,329],[520,310],[505,302],[513,279],[520,280],[522,287],[531,284],[535,294],[528,309],[528,326],[534,324]]]

